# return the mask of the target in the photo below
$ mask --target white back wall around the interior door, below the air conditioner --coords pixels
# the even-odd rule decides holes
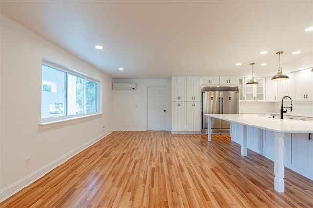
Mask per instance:
[[[147,87],[168,87],[168,131],[171,129],[171,79],[114,79],[113,83],[136,83],[136,90],[114,90],[114,130],[147,130]],[[136,107],[137,106],[137,107]]]

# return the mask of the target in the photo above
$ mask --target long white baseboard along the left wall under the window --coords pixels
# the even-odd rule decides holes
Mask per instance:
[[[22,190],[24,187],[32,184],[33,182],[37,181],[45,174],[53,170],[54,168],[60,166],[79,152],[83,151],[84,149],[88,148],[89,146],[95,144],[96,142],[100,141],[104,137],[111,134],[113,130],[107,131],[96,138],[90,140],[89,142],[73,149],[72,151],[68,152],[67,154],[61,156],[60,158],[52,161],[51,163],[47,164],[46,166],[36,170],[35,172],[29,174],[28,176],[22,178],[21,180],[15,182],[14,184],[10,185],[9,187],[3,188],[0,190],[0,202],[4,201],[5,199],[9,198],[13,194],[17,193],[18,191]]]

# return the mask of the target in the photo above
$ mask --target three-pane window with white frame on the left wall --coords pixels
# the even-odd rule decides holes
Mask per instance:
[[[42,119],[55,121],[96,114],[99,112],[98,101],[98,81],[65,67],[43,62]]]

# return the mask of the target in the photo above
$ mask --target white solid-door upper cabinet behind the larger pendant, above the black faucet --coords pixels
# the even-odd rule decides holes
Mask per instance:
[[[291,97],[291,100],[295,100],[295,80],[294,72],[287,74],[288,80],[278,80],[277,82],[277,101],[281,101],[284,96]]]

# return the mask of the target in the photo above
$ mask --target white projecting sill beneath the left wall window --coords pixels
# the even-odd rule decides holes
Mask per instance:
[[[41,126],[41,129],[44,130],[48,128],[58,127],[61,125],[69,125],[69,124],[73,124],[73,123],[77,123],[81,121],[86,121],[86,120],[94,119],[94,118],[101,117],[101,116],[102,116],[102,113],[98,113],[98,114],[92,114],[92,115],[86,115],[86,116],[80,116],[80,117],[74,117],[74,118],[67,118],[67,119],[58,120],[58,121],[42,122],[39,125]]]

